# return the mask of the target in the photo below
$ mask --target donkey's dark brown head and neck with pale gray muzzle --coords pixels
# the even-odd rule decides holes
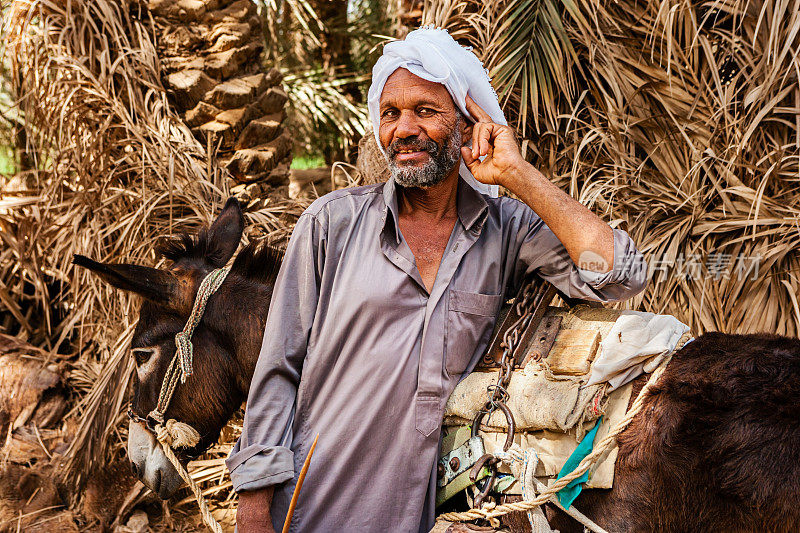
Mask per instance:
[[[143,298],[131,341],[136,376],[128,456],[137,477],[161,498],[169,498],[183,482],[144,420],[156,407],[175,356],[175,335],[189,318],[201,281],[233,256],[243,229],[239,203],[230,199],[208,230],[181,235],[161,246],[161,254],[172,262],[167,270],[75,256],[77,265]],[[193,373],[178,383],[164,413],[165,419],[189,424],[200,434],[196,446],[176,450],[184,464],[217,440],[247,396],[280,258],[271,247],[249,245],[208,300],[192,336]]]

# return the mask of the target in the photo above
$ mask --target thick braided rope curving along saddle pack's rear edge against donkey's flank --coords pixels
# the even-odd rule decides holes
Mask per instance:
[[[675,347],[676,352],[681,349],[690,339],[692,338],[691,334],[688,332],[685,333],[681,339],[678,341],[678,345]],[[612,446],[617,444],[617,436],[622,433],[622,431],[628,427],[628,425],[633,421],[633,418],[639,414],[639,411],[642,410],[644,407],[644,400],[647,393],[650,389],[655,386],[658,378],[661,377],[661,374],[664,373],[664,369],[666,369],[667,364],[672,359],[672,355],[668,355],[664,358],[663,361],[658,365],[658,367],[653,371],[650,375],[650,379],[647,381],[642,390],[639,391],[639,395],[636,396],[636,400],[634,400],[633,404],[631,404],[630,409],[628,412],[625,413],[625,417],[620,420],[597,445],[595,445],[592,452],[583,458],[583,460],[578,464],[578,466],[567,474],[566,476],[562,477],[555,481],[552,485],[547,487],[547,489],[543,490],[536,498],[531,500],[524,500],[520,502],[511,502],[505,503],[503,505],[492,505],[491,507],[480,508],[480,509],[470,509],[469,511],[464,512],[452,512],[452,513],[444,513],[439,515],[438,519],[446,520],[448,522],[467,522],[469,520],[493,520],[497,519],[503,515],[507,515],[509,513],[513,513],[516,511],[529,511],[536,507],[539,507],[543,503],[546,503],[550,498],[552,498],[558,491],[566,487],[570,484],[570,482],[574,479],[579,478],[582,476],[586,471],[588,471],[594,464],[600,459],[600,457],[608,451]]]

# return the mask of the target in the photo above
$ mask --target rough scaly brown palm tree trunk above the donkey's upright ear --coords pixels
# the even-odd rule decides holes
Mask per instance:
[[[288,181],[292,137],[286,92],[262,61],[250,0],[151,0],[164,86],[209,156],[239,187],[261,196]]]

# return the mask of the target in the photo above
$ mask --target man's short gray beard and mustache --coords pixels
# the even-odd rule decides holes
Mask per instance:
[[[450,132],[450,136],[445,140],[444,146],[434,141],[416,144],[415,148],[425,148],[428,152],[428,162],[421,167],[399,166],[396,162],[397,148],[393,143],[386,150],[389,160],[389,172],[391,172],[395,183],[402,187],[432,187],[441,183],[453,167],[461,161],[461,128],[458,125]],[[400,143],[408,146],[412,143]]]

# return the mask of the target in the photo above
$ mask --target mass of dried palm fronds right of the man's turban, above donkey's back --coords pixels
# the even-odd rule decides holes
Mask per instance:
[[[448,24],[472,29],[469,39],[484,43],[476,52],[490,58],[491,71],[512,57],[492,55],[493,47],[522,35],[527,28],[517,23],[531,19],[498,26],[489,15],[524,4],[476,2],[459,7]],[[457,4],[428,5],[441,17],[442,6]],[[504,102],[512,123],[523,109],[527,124],[536,122],[539,95],[545,120],[523,143],[526,151],[571,194],[626,227],[647,256],[652,280],[631,305],[674,314],[697,333],[798,335],[797,3],[564,6],[561,21],[577,57],[571,74],[540,61],[527,81],[495,77],[495,88],[519,95],[519,106]],[[565,61],[571,57],[563,53]],[[531,89],[531,73],[566,78],[544,102]]]

